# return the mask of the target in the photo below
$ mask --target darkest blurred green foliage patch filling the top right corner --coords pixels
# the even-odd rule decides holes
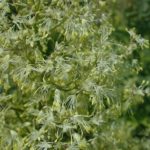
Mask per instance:
[[[134,3],[134,5],[133,5]],[[132,0],[126,8],[126,18],[128,26],[136,27],[142,35],[150,35],[150,0],[135,1]]]

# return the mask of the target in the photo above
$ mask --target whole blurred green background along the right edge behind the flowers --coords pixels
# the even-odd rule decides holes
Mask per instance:
[[[113,36],[120,42],[127,42],[128,35],[125,28],[134,28],[142,37],[149,40],[149,48],[135,49],[133,58],[140,62],[142,67],[137,85],[141,81],[147,82],[145,96],[142,104],[132,108],[131,114],[127,113],[127,121],[135,124],[132,129],[133,139],[141,142],[140,149],[150,148],[150,0],[110,0],[105,2],[107,13],[115,27]],[[109,8],[109,9],[108,9]]]

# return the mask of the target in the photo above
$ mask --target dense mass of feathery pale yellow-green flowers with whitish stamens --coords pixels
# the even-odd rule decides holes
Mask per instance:
[[[133,30],[118,40],[107,9],[97,0],[0,3],[0,149],[149,148],[127,117],[148,94],[134,57],[148,41]]]

